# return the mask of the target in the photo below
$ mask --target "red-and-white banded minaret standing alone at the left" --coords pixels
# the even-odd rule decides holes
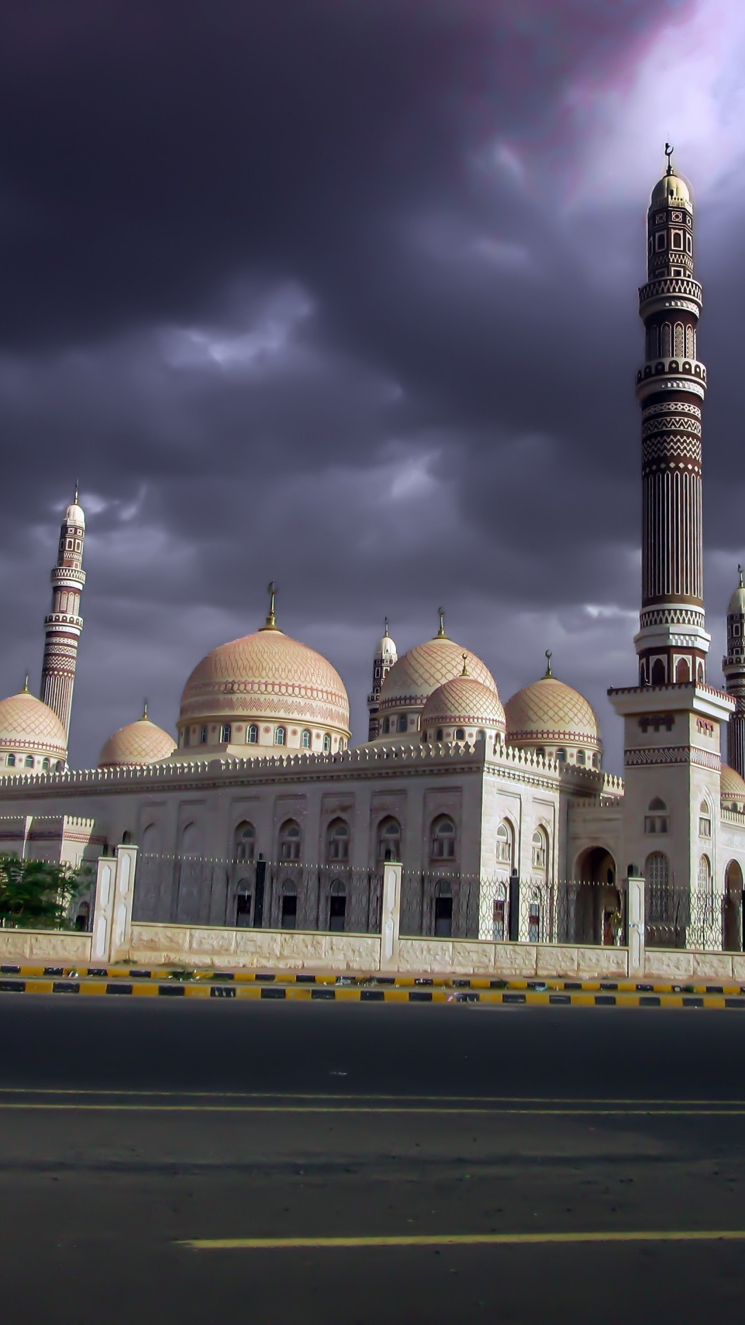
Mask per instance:
[[[60,529],[60,551],[52,571],[52,611],[44,619],[44,664],[41,668],[41,698],[57,714],[65,731],[70,731],[73,685],[78,640],[82,631],[80,598],[85,584],[82,545],[85,515],[76,498],[68,506]]]

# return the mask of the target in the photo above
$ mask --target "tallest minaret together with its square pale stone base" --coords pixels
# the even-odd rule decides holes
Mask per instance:
[[[721,726],[734,701],[707,685],[697,352],[701,286],[693,276],[693,200],[669,163],[647,212],[647,281],[639,289],[642,407],[642,610],[638,684],[608,690],[624,719],[624,864],[652,885],[704,888],[717,871]],[[708,828],[708,836],[707,836]],[[654,909],[654,908],[652,908]]]

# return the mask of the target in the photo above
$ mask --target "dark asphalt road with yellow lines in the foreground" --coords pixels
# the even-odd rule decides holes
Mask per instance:
[[[738,1012],[1,995],[0,1045],[11,1325],[742,1317]]]

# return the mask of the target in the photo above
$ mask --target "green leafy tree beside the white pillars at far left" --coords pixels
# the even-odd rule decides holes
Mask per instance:
[[[86,867],[53,865],[0,855],[0,925],[64,929],[70,905],[90,882]]]

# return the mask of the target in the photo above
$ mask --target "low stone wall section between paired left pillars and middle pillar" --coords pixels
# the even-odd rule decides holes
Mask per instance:
[[[322,934],[288,929],[133,924],[130,946],[117,954],[143,965],[245,966],[264,970],[376,971],[378,934]]]

